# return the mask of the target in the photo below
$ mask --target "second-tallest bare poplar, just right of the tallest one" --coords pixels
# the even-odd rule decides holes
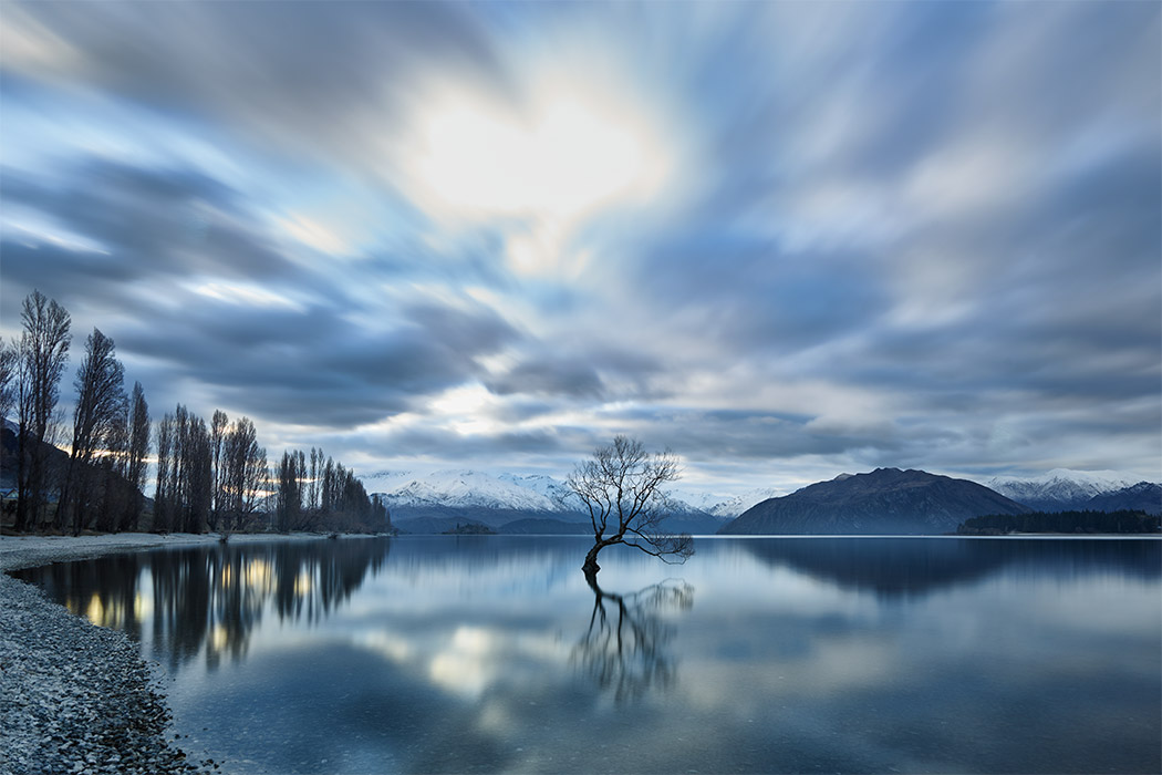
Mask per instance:
[[[72,451],[69,469],[57,503],[57,528],[72,517],[72,530],[80,534],[92,503],[94,487],[93,459],[109,451],[109,440],[124,426],[125,369],[116,358],[113,339],[99,329],[85,339],[85,360],[77,369],[73,386],[77,406],[73,410]]]

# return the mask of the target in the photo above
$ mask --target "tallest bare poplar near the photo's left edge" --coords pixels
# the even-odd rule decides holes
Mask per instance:
[[[48,447],[56,435],[60,378],[69,364],[72,318],[56,300],[34,290],[21,311],[23,332],[17,359],[17,531],[35,528],[44,504]]]

